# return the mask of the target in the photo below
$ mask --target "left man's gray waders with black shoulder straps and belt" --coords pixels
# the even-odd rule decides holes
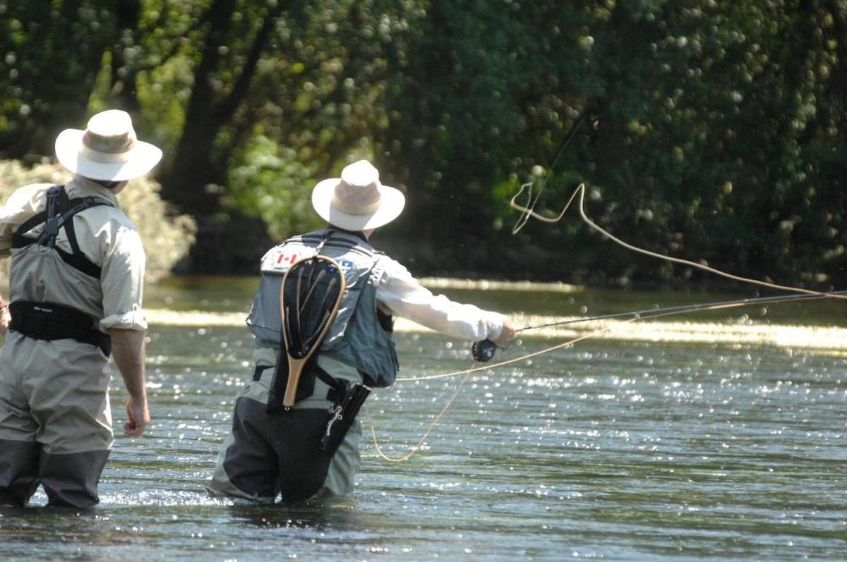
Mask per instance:
[[[46,197],[45,210],[14,232],[13,278],[21,261],[33,260],[46,264],[33,271],[58,268],[57,278],[70,287],[99,287],[101,267],[80,251],[73,218],[112,203],[69,199],[63,186],[53,186]],[[30,235],[42,224],[41,234]],[[71,251],[56,245],[60,229]],[[12,296],[12,322],[0,350],[0,504],[26,505],[41,483],[50,505],[91,507],[99,501],[97,482],[113,440],[111,341],[96,318],[71,306]]]

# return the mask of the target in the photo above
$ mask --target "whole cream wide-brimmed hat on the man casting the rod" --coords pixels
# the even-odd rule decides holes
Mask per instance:
[[[312,190],[312,207],[327,223],[345,230],[375,229],[400,216],[406,205],[401,190],[379,183],[379,171],[367,160],[324,179]]]

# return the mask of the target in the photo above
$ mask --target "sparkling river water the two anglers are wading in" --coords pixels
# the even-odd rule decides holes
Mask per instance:
[[[249,377],[242,319],[254,287],[178,279],[148,289],[152,427],[118,436],[97,509],[50,510],[41,491],[33,507],[0,509],[0,559],[847,557],[847,303],[527,332],[534,337],[497,356],[518,361],[467,376],[408,460],[380,451],[407,455],[464,375],[374,391],[351,496],[262,508],[202,488]],[[543,285],[443,291],[515,313],[518,325],[734,298]],[[396,341],[401,377],[472,365],[467,344],[413,326],[398,325]],[[116,426],[124,399],[116,378]]]

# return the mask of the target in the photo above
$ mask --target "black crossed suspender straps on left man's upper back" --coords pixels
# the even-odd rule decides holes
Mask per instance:
[[[12,247],[24,248],[30,244],[47,246],[55,250],[69,266],[75,267],[75,269],[86,273],[86,275],[99,279],[101,267],[91,262],[80,251],[80,245],[76,240],[76,233],[74,231],[73,218],[78,212],[102,205],[114,207],[110,201],[100,197],[69,199],[68,193],[64,190],[64,185],[53,185],[53,187],[47,190],[47,208],[25,220],[15,230],[12,235]],[[44,223],[44,229],[37,239],[25,235],[41,223]],[[65,234],[68,235],[68,243],[71,249],[69,252],[62,250],[56,245],[56,236],[58,235],[58,230],[61,228],[64,228]]]

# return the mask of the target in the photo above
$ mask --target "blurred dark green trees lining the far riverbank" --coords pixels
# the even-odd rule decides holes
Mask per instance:
[[[519,185],[557,212],[585,182],[634,244],[844,286],[845,49],[844,0],[0,0],[0,157],[124,107],[197,220],[197,273],[255,273],[368,157],[408,188],[375,240],[415,273],[713,280],[575,213],[512,235]]]

